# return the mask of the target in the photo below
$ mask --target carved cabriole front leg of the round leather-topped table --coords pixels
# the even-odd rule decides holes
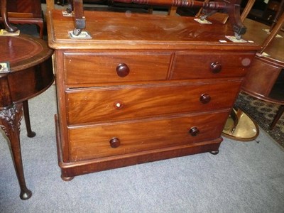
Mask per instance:
[[[13,154],[13,163],[18,178],[18,183],[21,188],[20,197],[22,200],[28,200],[32,193],[26,187],[25,177],[23,175],[23,162],[21,158],[21,143],[20,143],[20,125],[23,116],[23,104],[13,104],[9,109],[0,111],[0,126],[9,138],[11,151]]]

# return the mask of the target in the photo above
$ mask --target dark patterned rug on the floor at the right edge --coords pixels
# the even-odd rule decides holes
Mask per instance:
[[[266,133],[284,148],[284,116],[281,117],[274,129],[269,129],[279,105],[263,102],[244,92],[239,94],[236,105],[244,109]]]

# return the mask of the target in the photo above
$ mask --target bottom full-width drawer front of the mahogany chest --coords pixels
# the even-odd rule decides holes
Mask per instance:
[[[70,161],[125,155],[219,138],[229,111],[68,129]]]

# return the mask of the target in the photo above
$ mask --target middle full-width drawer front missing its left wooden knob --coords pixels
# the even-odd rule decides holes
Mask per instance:
[[[67,92],[68,124],[227,109],[240,81],[98,87]]]

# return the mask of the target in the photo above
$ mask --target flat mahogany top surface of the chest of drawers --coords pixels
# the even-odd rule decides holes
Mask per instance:
[[[85,31],[90,39],[70,38],[73,18],[62,11],[48,11],[48,43],[55,50],[256,50],[256,43],[233,43],[229,24],[210,20],[202,24],[195,17],[141,13],[84,11]]]

